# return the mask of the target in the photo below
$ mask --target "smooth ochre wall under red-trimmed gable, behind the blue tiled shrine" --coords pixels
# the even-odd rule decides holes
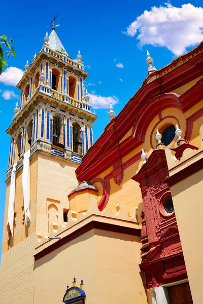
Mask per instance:
[[[76,276],[86,304],[147,304],[139,263],[139,237],[91,230],[35,262],[35,303],[60,303]]]

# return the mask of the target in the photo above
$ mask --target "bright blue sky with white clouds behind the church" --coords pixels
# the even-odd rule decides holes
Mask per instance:
[[[155,8],[151,9],[153,6]],[[26,60],[30,63],[33,55],[41,50],[46,31],[51,31],[47,25],[53,15],[58,14],[59,39],[73,59],[80,50],[85,69],[90,73],[86,88],[92,94],[92,110],[98,115],[93,128],[95,141],[109,122],[109,101],[113,101],[117,114],[147,77],[147,49],[159,69],[203,40],[200,6],[201,1],[164,4],[164,1],[78,0],[75,4],[69,2],[57,7],[53,0],[40,3],[11,0],[1,5],[5,13],[1,14],[0,34],[14,40],[16,58],[8,60],[9,66],[24,70]],[[5,75],[0,77],[0,243],[10,144],[10,136],[5,131],[12,123],[13,108],[20,95],[15,86],[9,85],[15,83],[12,77],[17,78],[17,75]]]

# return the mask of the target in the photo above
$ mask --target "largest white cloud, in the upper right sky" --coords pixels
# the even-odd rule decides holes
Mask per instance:
[[[179,56],[187,47],[195,46],[203,40],[203,8],[184,4],[181,8],[166,3],[165,6],[152,7],[151,11],[137,17],[125,34],[137,35],[138,46],[166,47]]]

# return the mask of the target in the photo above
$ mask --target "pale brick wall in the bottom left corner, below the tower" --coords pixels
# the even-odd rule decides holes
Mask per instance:
[[[33,233],[2,254],[0,303],[33,304],[35,273],[33,272],[36,234]],[[39,301],[38,303],[42,303]]]

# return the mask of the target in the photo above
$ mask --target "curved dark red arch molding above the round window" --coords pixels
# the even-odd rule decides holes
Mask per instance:
[[[132,128],[132,136],[144,141],[147,128],[149,127],[153,118],[156,115],[159,115],[161,118],[161,111],[170,107],[176,107],[183,111],[179,102],[178,94],[165,93],[154,97],[152,100],[149,100],[149,102],[143,108],[140,118],[136,120]]]

